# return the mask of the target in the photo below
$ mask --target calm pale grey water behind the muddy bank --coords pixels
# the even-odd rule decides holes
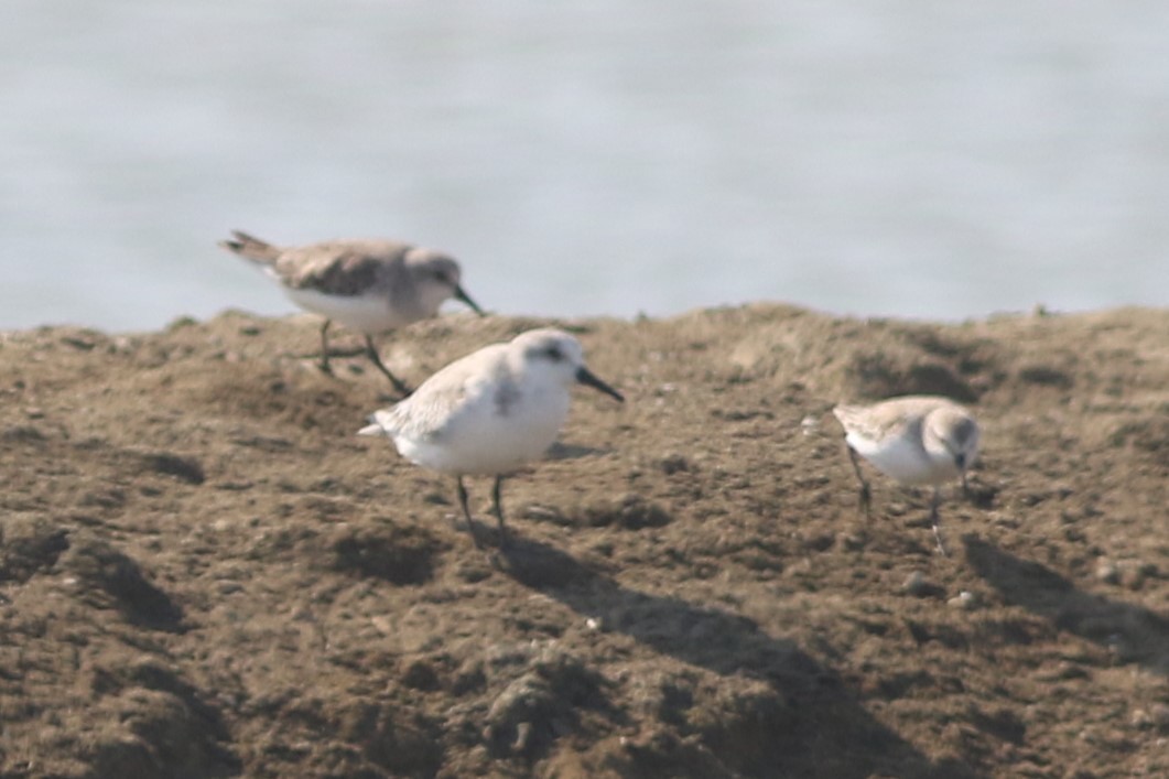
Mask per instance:
[[[292,310],[215,247],[444,248],[502,312],[1169,304],[1163,0],[5,0],[0,328]]]

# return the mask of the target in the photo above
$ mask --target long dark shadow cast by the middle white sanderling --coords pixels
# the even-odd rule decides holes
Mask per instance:
[[[623,586],[570,554],[520,536],[500,551],[497,567],[597,620],[607,632],[728,678],[766,682],[783,713],[721,751],[738,775],[977,775],[957,760],[932,761],[870,715],[836,671],[742,615]],[[706,775],[697,766],[691,771],[687,775]]]

